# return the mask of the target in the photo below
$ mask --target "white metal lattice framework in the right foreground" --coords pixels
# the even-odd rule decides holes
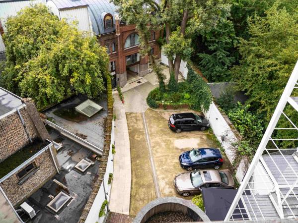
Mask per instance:
[[[298,218],[297,88],[298,62],[224,221]]]

